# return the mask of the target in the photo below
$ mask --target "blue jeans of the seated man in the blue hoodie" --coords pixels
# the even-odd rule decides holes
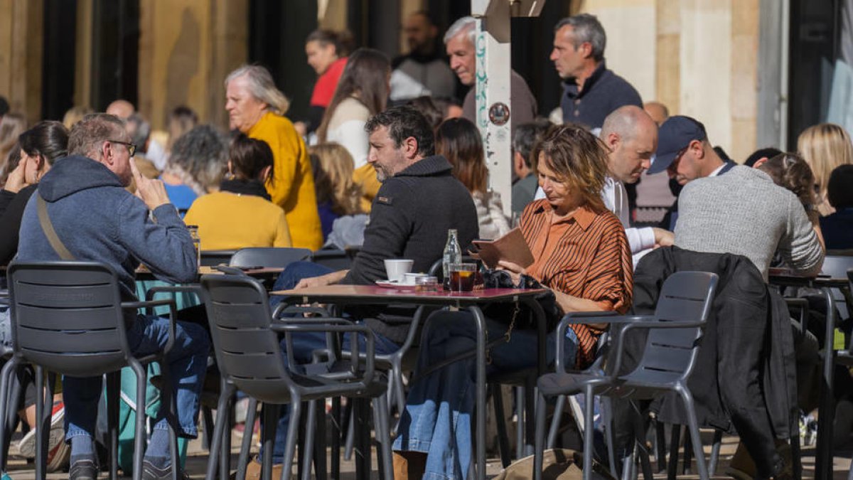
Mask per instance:
[[[144,356],[159,352],[169,332],[169,319],[139,315],[127,330],[127,342],[131,352]],[[207,354],[210,340],[200,325],[177,322],[175,343],[165,360],[169,364],[171,389],[177,405],[177,421],[181,431],[178,436],[194,438],[199,416],[199,394],[207,369]],[[101,397],[102,377],[62,378],[62,397],[65,401],[66,439],[73,436],[94,438],[97,417],[97,402]],[[164,418],[168,406],[161,404],[154,429],[169,428]]]

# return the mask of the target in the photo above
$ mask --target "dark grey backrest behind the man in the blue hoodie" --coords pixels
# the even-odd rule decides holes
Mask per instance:
[[[119,279],[96,262],[9,266],[15,354],[52,372],[92,377],[127,365]]]

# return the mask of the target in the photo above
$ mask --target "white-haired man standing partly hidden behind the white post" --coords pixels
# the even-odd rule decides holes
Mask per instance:
[[[453,22],[444,34],[444,45],[447,48],[447,56],[450,57],[450,69],[459,77],[462,85],[470,86],[471,90],[462,102],[462,117],[477,123],[477,108],[474,97],[477,89],[477,63],[474,55],[475,26],[477,20],[473,17],[462,17]],[[512,115],[512,135],[515,135],[515,126],[528,123],[536,119],[537,103],[533,97],[530,87],[525,79],[512,71],[509,82],[509,97],[512,99],[509,112]]]

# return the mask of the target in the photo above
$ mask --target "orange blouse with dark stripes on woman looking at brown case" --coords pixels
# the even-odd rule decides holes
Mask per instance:
[[[536,259],[527,267],[528,275],[553,290],[595,301],[601,310],[624,313],[630,308],[631,251],[615,215],[581,207],[554,222],[554,210],[543,199],[525,208],[521,232]],[[571,328],[579,341],[577,365],[589,365],[601,330],[589,325]]]

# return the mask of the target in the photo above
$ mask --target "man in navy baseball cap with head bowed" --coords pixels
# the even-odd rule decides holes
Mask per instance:
[[[658,150],[648,174],[666,171],[670,179],[684,186],[695,179],[716,177],[737,165],[723,160],[708,141],[705,126],[699,120],[685,115],[675,115],[664,121],[658,131]],[[661,227],[676,230],[678,198],[664,216]]]

